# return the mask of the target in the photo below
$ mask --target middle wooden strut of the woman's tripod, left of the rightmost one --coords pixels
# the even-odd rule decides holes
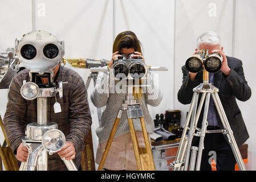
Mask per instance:
[[[130,128],[131,136],[132,136],[132,144],[133,144],[133,150],[134,150],[134,154],[135,154],[137,169],[139,171],[142,171],[142,167],[141,167],[141,163],[140,163],[139,142],[137,140],[137,136],[136,136],[133,122],[132,122],[132,118],[128,118],[128,123],[129,123],[129,128]]]

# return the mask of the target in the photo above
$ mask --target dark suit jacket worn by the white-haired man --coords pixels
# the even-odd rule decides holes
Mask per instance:
[[[245,74],[243,73],[242,61],[234,57],[227,57],[227,64],[231,68],[229,76],[225,76],[221,71],[214,73],[214,86],[219,89],[218,95],[222,106],[224,107],[227,120],[231,130],[233,131],[234,138],[237,142],[237,146],[241,146],[248,138],[249,134],[247,132],[245,122],[243,121],[241,111],[237,105],[235,98],[239,101],[247,101],[251,97],[251,89],[247,85],[245,80]],[[178,101],[182,104],[190,104],[193,97],[193,88],[201,84],[202,81],[202,71],[197,73],[197,76],[194,81],[189,79],[189,72],[186,69],[185,65],[182,67],[183,80],[180,90],[178,90]],[[200,102],[200,97],[198,102]],[[204,107],[202,107],[204,108]],[[201,111],[201,115],[198,121],[198,127],[201,127],[202,124],[202,115],[204,109]],[[223,129],[223,125],[218,111],[215,107],[215,112],[217,115],[218,125]],[[226,141],[228,142],[226,135],[224,135]],[[197,137],[196,137],[197,138]]]

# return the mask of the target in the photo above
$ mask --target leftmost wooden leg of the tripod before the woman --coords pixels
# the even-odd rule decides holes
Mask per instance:
[[[112,127],[111,133],[110,133],[109,138],[108,138],[107,145],[105,146],[105,150],[104,150],[103,156],[102,156],[102,158],[100,160],[100,164],[99,164],[99,167],[98,167],[97,171],[102,171],[102,169],[103,169],[105,160],[107,159],[108,151],[109,151],[109,149],[111,147],[111,143],[113,141],[113,138],[115,137],[116,129],[117,129],[117,126],[118,126],[119,121],[121,119],[121,114],[122,113],[123,113],[123,111],[119,110],[119,113],[117,114],[117,117],[115,119],[115,123],[114,123],[114,125]]]

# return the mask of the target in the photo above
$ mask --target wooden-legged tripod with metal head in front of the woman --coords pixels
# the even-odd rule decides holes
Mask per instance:
[[[135,153],[137,169],[139,171],[155,171],[156,170],[152,151],[151,151],[151,145],[149,143],[148,133],[147,133],[147,129],[144,121],[143,110],[141,109],[141,104],[136,103],[136,100],[134,100],[134,96],[132,95],[132,92],[133,92],[133,86],[127,86],[126,100],[123,101],[123,104],[121,105],[121,109],[119,110],[117,117],[115,119],[115,123],[113,124],[111,133],[108,138],[107,145],[105,147],[103,156],[99,164],[99,168],[97,169],[98,171],[101,171],[103,169],[105,159],[107,158],[109,148],[111,147],[112,140],[115,136],[117,126],[119,124],[119,121],[121,119],[121,116],[124,110],[127,111],[129,129],[132,136],[132,144],[133,144],[133,150]],[[137,140],[136,131],[132,121],[132,119],[135,119],[135,118],[140,118],[141,129],[143,131],[143,137],[145,142],[145,148],[139,147],[139,142]]]

